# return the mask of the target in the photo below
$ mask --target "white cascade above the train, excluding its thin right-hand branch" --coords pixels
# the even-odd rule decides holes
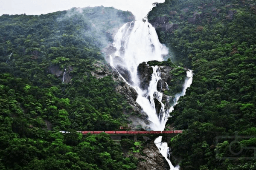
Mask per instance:
[[[163,61],[163,55],[168,54],[168,49],[159,42],[154,27],[147,21],[126,23],[116,34],[113,46],[117,49],[114,55],[121,57],[122,62],[113,62],[113,58],[111,57],[111,65],[113,67],[121,65],[130,72],[133,82],[133,84],[130,85],[132,85],[139,94],[136,102],[139,103],[148,114],[148,119],[152,122],[151,129],[162,129],[164,125],[162,125],[161,122],[163,121],[156,121],[158,120],[158,116],[153,101],[154,96],[161,97],[161,94],[156,89],[157,81],[160,79],[160,69],[157,68],[157,66],[153,69],[154,74],[152,75],[152,81],[149,85],[150,89],[148,90],[148,94],[146,94],[147,91],[143,91],[139,87],[140,81],[137,76],[137,67],[142,62],[151,60]],[[150,100],[148,100],[148,96],[150,96]]]

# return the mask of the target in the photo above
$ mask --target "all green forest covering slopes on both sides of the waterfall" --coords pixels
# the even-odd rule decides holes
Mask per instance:
[[[143,160],[124,150],[137,152],[140,142],[76,132],[130,123],[131,106],[115,89],[124,82],[91,73],[111,72],[101,50],[132,20],[103,6],[0,17],[1,170],[137,169]],[[172,54],[167,65],[193,71],[166,125],[183,130],[169,141],[173,164],[256,170],[255,0],[166,0],[154,3],[148,22]]]

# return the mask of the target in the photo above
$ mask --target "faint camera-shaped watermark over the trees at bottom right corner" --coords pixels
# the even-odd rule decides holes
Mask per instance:
[[[234,136],[216,136],[216,159],[219,160],[256,160],[256,147],[244,147],[244,145],[240,142],[246,139],[256,138],[256,136],[238,136],[238,133],[235,132]],[[228,146],[228,153],[223,153],[221,151],[218,144],[223,141],[230,141],[230,139],[234,139],[232,142],[229,143]],[[249,152],[251,154],[244,154],[245,152]]]

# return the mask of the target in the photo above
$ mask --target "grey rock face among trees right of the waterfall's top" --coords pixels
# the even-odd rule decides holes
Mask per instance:
[[[171,11],[172,15],[177,14],[176,11]],[[178,25],[175,23],[169,23],[171,19],[168,16],[163,17],[155,17],[151,21],[151,25],[156,28],[158,31],[166,31],[166,32],[172,32],[173,30],[178,28]]]

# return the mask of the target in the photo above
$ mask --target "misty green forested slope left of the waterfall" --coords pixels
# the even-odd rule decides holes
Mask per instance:
[[[76,132],[128,123],[117,82],[91,71],[108,68],[100,49],[113,41],[112,28],[131,20],[130,12],[102,6],[0,17],[1,170],[137,167],[137,159],[123,156],[108,134]]]

